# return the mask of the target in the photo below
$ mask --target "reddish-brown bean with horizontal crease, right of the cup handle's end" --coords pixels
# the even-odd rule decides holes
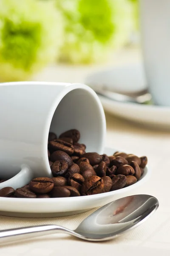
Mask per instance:
[[[54,180],[48,177],[38,177],[29,183],[30,189],[38,194],[47,194],[54,188]]]

